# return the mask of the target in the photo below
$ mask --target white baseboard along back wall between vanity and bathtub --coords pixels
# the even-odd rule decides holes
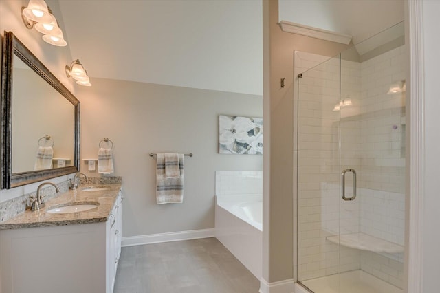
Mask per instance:
[[[190,230],[190,231],[181,231],[181,232],[122,237],[122,247],[209,238],[209,237],[214,237],[214,231],[215,229],[201,229],[201,230]]]

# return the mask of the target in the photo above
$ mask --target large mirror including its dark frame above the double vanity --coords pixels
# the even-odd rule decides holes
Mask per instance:
[[[12,32],[3,37],[1,189],[79,170],[80,102]]]

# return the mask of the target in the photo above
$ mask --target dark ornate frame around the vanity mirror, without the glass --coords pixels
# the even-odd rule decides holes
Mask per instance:
[[[52,85],[75,107],[74,166],[12,173],[12,74],[14,55]],[[80,166],[80,101],[12,32],[4,32],[1,66],[1,189],[9,189],[78,172]]]

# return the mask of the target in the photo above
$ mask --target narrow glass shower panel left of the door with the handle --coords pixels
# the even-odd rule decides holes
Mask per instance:
[[[298,282],[314,292],[339,292],[339,102],[340,56],[298,78]]]

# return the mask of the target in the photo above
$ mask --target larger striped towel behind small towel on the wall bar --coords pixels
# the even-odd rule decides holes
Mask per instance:
[[[157,204],[181,203],[184,201],[184,155],[179,153],[179,177],[166,177],[165,154],[156,157],[156,202]]]

